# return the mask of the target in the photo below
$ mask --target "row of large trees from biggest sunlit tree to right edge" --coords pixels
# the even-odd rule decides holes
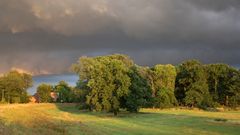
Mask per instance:
[[[227,64],[188,60],[142,67],[126,55],[81,57],[73,65],[80,77],[82,108],[117,114],[142,107],[237,107],[240,71]]]

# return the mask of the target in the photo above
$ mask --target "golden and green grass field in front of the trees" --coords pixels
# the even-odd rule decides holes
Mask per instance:
[[[240,111],[79,111],[74,104],[0,106],[0,135],[239,135]]]

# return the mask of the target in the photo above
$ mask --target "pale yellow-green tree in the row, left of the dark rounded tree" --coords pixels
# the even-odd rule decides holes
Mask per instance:
[[[153,68],[141,67],[140,74],[152,90],[153,107],[172,107],[177,100],[174,95],[176,68],[172,65],[156,65]]]

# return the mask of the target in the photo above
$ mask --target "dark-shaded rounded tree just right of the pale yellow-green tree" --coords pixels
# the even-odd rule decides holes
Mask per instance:
[[[207,74],[199,61],[189,60],[178,66],[175,95],[187,106],[211,105]]]

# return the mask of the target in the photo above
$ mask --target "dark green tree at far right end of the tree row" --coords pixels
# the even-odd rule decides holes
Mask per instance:
[[[239,104],[240,72],[226,64],[210,64],[205,69],[214,102],[227,106]]]

